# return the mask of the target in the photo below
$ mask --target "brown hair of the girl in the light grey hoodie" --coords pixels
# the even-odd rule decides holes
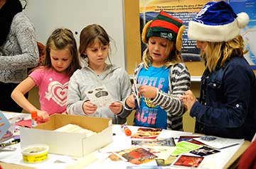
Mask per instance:
[[[79,53],[80,57],[87,58],[84,54],[87,47],[91,47],[95,44],[95,42],[100,42],[102,45],[110,45],[110,36],[107,34],[106,30],[102,28],[101,25],[92,24],[87,25],[85,28],[82,29],[80,33],[80,46],[79,46]],[[109,54],[111,52],[111,48],[109,48]],[[109,61],[110,57],[107,56]],[[111,63],[111,61],[110,61]]]

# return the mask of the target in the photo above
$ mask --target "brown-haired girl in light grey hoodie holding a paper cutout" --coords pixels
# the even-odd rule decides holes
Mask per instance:
[[[93,24],[83,28],[79,52],[81,57],[85,57],[86,65],[70,78],[68,114],[105,117],[112,119],[114,124],[124,124],[132,110],[125,109],[122,101],[131,94],[131,83],[124,69],[107,64],[106,59],[110,60],[110,37],[102,26]],[[94,92],[94,98],[109,97],[112,103],[98,105],[88,97]]]

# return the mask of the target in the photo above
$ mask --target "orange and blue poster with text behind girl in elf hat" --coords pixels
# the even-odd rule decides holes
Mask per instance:
[[[208,0],[140,0],[139,1],[139,18],[140,29],[151,21],[160,11],[165,11],[171,16],[181,19],[186,30],[183,33],[182,57],[184,61],[201,61],[200,49],[196,48],[196,41],[189,40],[187,35],[188,22],[191,21]],[[142,43],[142,52],[146,45]]]

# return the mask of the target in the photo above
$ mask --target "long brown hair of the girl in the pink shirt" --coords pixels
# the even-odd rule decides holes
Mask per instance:
[[[53,31],[53,33],[48,37],[48,40],[46,42],[46,58],[43,61],[42,66],[46,66],[48,68],[52,67],[52,64],[50,62],[50,50],[61,50],[61,49],[68,49],[70,51],[70,54],[72,56],[72,61],[68,68],[66,69],[67,74],[69,76],[72,76],[73,73],[80,69],[80,59],[78,58],[78,47],[75,42],[75,37],[71,30],[66,28],[58,28]]]

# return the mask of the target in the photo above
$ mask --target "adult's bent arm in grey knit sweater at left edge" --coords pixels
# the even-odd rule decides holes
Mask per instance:
[[[24,14],[17,13],[11,23],[11,34],[16,36],[21,54],[14,56],[0,56],[1,69],[26,69],[38,65],[39,53],[36,42],[35,29],[31,21]],[[10,37],[12,38],[12,37]],[[11,46],[11,45],[10,45]],[[7,47],[6,52],[14,48]]]

